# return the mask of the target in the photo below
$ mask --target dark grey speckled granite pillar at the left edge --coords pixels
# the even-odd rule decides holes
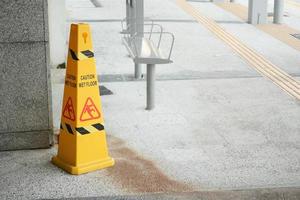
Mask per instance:
[[[0,150],[51,144],[47,0],[0,1]]]

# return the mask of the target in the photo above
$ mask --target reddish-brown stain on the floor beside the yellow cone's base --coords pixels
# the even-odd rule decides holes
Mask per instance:
[[[152,161],[143,158],[117,137],[108,135],[107,140],[114,167],[107,169],[109,175],[122,188],[134,192],[187,192],[192,187],[165,175]]]

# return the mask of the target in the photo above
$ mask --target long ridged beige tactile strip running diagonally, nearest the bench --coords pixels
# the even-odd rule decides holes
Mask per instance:
[[[203,16],[198,10],[193,8],[186,0],[177,0],[177,4],[185,10],[188,14],[193,16],[200,24],[205,26],[218,38],[228,44],[235,50],[242,58],[244,58],[255,70],[265,77],[268,77],[281,89],[286,91],[289,95],[300,100],[300,84],[292,76],[279,69],[270,61],[256,53],[254,50],[247,47],[236,37],[226,32],[214,20]]]

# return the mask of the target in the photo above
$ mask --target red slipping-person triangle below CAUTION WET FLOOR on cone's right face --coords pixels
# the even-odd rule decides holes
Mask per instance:
[[[80,115],[80,121],[88,121],[92,119],[100,118],[100,112],[96,108],[93,100],[89,97],[87,98],[82,113]]]

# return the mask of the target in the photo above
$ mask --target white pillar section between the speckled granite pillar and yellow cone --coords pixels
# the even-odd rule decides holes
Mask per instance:
[[[66,60],[66,2],[48,0],[50,65],[56,67]]]

